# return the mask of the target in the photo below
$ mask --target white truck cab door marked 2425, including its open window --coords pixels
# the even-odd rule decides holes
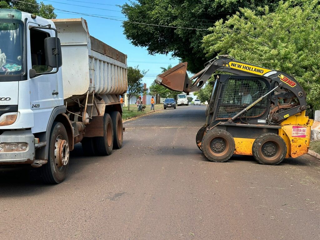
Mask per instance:
[[[34,69],[38,74],[54,71],[52,67],[47,66],[44,55],[44,39],[54,35],[54,32],[49,29],[29,29],[29,26],[38,25],[29,22],[27,27],[28,70]],[[44,115],[50,116],[52,109],[56,106],[60,106],[57,74],[37,75],[31,78],[30,108],[34,111],[35,118],[40,112],[42,118],[45,117]]]

